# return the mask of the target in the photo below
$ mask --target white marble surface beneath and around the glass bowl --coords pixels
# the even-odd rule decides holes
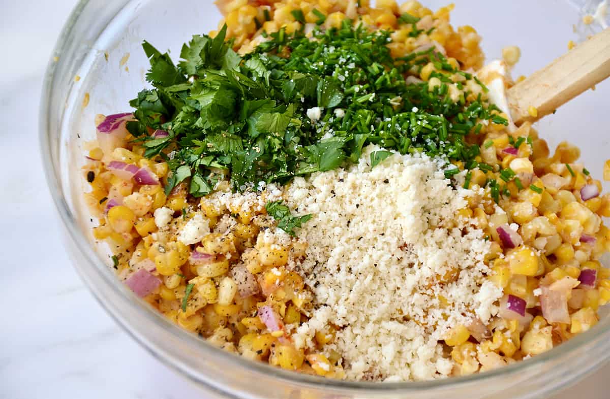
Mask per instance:
[[[38,155],[38,99],[74,4],[0,1],[0,398],[205,398],[120,330],[77,277],[60,240]],[[607,398],[608,373],[610,367],[556,399]]]

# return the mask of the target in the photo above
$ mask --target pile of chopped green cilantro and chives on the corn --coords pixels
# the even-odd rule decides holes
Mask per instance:
[[[403,24],[415,22],[401,17]],[[415,36],[424,33],[412,30]],[[243,57],[225,35],[226,26],[215,38],[194,36],[182,47],[178,65],[143,44],[151,63],[146,79],[154,88],[130,102],[137,121],[127,128],[146,147],[146,157],[168,161],[167,192],[185,181],[190,194],[201,197],[227,176],[237,190],[260,181],[285,183],[356,162],[371,143],[463,161],[472,169],[483,166],[475,161],[479,146],[465,136],[476,135],[482,120],[506,124],[480,96],[470,103],[464,96],[452,101],[445,74],[432,72],[442,81],[433,90],[406,79],[407,72],[432,62],[437,71],[476,80],[454,70],[434,48],[392,58],[390,32],[369,32],[351,21],[340,29],[315,30],[312,38],[280,30]],[[317,113],[311,112],[315,107],[321,108],[319,120],[307,113]],[[151,138],[150,129],[169,135]],[[389,154],[371,154],[372,166]]]

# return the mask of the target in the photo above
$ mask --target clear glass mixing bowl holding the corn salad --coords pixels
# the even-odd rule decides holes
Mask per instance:
[[[423,1],[436,9],[445,1]],[[515,76],[529,74],[564,53],[569,40],[590,34],[579,23],[579,2],[456,1],[453,23],[475,26],[488,59],[511,44],[522,49]],[[584,3],[584,2],[583,2]],[[492,5],[493,4],[493,5]],[[478,375],[417,383],[331,381],[251,362],[221,351],[165,320],[113,273],[109,253],[96,247],[82,201],[84,144],[95,138],[96,113],[126,110],[145,86],[143,39],[178,57],[192,34],[217,27],[211,1],[84,0],[74,9],[49,62],[41,102],[40,143],[46,178],[77,271],[104,308],[140,344],[168,366],[227,398],[520,398],[542,397],[567,386],[608,359],[610,317],[543,355]],[[78,77],[78,79],[76,78]],[[578,144],[587,168],[601,176],[610,145],[606,129],[608,82],[540,122],[550,144]],[[607,188],[607,187],[606,187]]]

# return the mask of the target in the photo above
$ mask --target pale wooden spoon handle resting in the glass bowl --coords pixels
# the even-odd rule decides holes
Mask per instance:
[[[515,124],[534,122],[610,76],[610,28],[511,87],[506,96]],[[531,116],[529,107],[537,110]]]

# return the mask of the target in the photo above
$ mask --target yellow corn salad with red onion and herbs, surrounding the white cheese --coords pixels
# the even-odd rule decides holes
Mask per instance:
[[[602,222],[610,194],[578,162],[578,147],[561,143],[551,154],[529,122],[512,122],[503,93],[515,84],[519,48],[483,66],[476,30],[450,24],[453,5],[372,3],[219,1],[218,31],[184,44],[177,65],[145,41],[153,88],[130,102],[133,112],[98,115],[84,167],[99,221],[93,236],[109,245],[117,274],[213,345],[337,379],[467,375],[589,330],[610,300],[610,271],[599,261],[610,246]],[[311,270],[320,259],[311,257],[320,252],[311,238],[321,208],[312,203],[306,214],[291,194],[329,173],[343,183],[354,164],[367,174],[390,160],[396,168],[395,157],[438,166],[443,185],[465,196],[438,228],[472,235],[483,251],[429,280],[436,307],[392,319],[441,335],[430,373],[356,366],[345,336],[354,327],[318,320]],[[334,186],[318,186],[318,195],[325,187]],[[470,283],[493,293],[482,311],[442,291],[466,284],[474,268]],[[426,319],[434,309],[436,319]]]

